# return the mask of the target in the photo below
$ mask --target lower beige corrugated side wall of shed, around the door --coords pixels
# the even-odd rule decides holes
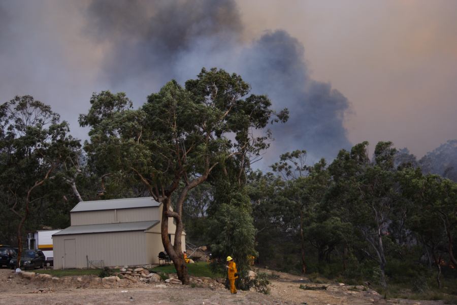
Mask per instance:
[[[65,239],[76,239],[76,268],[87,267],[86,255],[89,260],[103,260],[105,266],[152,263],[143,231],[57,235],[53,236],[55,269],[62,268]]]

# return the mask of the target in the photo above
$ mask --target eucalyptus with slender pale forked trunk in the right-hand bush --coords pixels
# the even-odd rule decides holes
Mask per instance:
[[[384,239],[389,233],[391,216],[400,200],[395,178],[396,149],[391,142],[379,142],[374,158],[368,155],[368,142],[341,150],[329,170],[335,182],[329,192],[338,202],[342,216],[352,223],[374,252],[362,249],[380,268],[380,284],[386,287],[387,264]]]

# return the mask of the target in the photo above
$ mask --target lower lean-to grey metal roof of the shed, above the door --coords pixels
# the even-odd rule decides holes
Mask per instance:
[[[71,235],[71,234],[90,234],[90,233],[107,233],[107,232],[122,232],[122,231],[144,231],[156,224],[158,220],[153,221],[138,221],[128,223],[116,224],[100,224],[100,225],[84,225],[84,226],[71,226],[60,232],[53,234],[56,235]]]

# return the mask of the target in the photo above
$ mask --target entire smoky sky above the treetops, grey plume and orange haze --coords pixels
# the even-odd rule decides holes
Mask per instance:
[[[33,95],[80,138],[92,92],[124,91],[138,107],[203,66],[290,109],[269,161],[364,140],[420,158],[457,138],[455,1],[0,0],[0,100]]]

